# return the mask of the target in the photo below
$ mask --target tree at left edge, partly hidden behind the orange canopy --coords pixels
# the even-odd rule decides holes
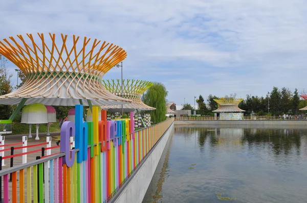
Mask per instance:
[[[7,60],[0,55],[0,95],[11,93],[13,90],[13,87],[11,85],[12,74],[9,73],[6,64]],[[11,114],[11,106],[0,105],[0,119],[9,119]]]

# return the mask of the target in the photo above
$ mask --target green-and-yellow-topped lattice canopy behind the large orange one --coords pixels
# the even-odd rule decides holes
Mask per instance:
[[[156,108],[145,105],[141,100],[141,95],[150,88],[153,83],[142,80],[123,80],[123,91],[121,88],[121,80],[112,79],[102,81],[104,87],[116,96],[131,100],[130,104],[123,105],[124,112],[135,111],[136,109],[141,111],[155,110]],[[122,93],[123,92],[123,93]],[[120,112],[121,105],[104,105],[102,109],[107,109],[111,112]]]

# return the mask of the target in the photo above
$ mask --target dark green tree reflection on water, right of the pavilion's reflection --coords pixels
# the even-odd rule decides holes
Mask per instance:
[[[293,147],[300,151],[301,135],[306,135],[306,129],[244,129],[242,142],[252,145],[270,145],[276,155],[289,155]]]

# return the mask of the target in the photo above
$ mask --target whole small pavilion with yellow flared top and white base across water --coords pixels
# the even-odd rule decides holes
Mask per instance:
[[[243,120],[244,110],[238,108],[238,104],[242,102],[243,98],[223,97],[213,99],[218,108],[212,112],[220,113],[220,120]]]

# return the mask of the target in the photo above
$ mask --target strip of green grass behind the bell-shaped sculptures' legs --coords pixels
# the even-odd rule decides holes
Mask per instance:
[[[12,125],[12,131],[13,131],[12,135],[29,134],[29,124],[22,124],[20,122],[13,122],[12,124],[13,124]],[[59,122],[50,123],[49,131],[50,132],[60,132],[61,129],[59,128]],[[32,125],[31,132],[33,134],[36,133],[35,125]],[[47,124],[40,124],[38,132],[47,133]]]

